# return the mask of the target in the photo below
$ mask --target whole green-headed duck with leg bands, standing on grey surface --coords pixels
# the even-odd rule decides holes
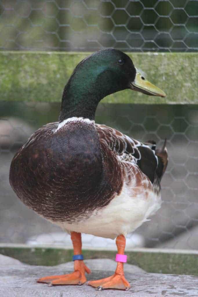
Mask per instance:
[[[124,276],[126,235],[161,206],[160,181],[166,170],[166,141],[156,149],[95,123],[99,102],[130,89],[165,97],[120,50],[105,49],[83,59],[64,87],[59,120],[34,132],[12,159],[9,181],[18,198],[37,214],[71,234],[74,271],[41,277],[52,285],[96,290],[129,290]],[[116,238],[115,273],[87,282],[81,233]]]

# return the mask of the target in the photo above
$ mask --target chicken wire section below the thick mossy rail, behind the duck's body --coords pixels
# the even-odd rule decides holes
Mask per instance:
[[[61,229],[21,203],[8,179],[10,162],[16,151],[35,129],[57,121],[60,104],[1,102],[0,110],[0,241],[71,244],[65,233],[60,234]],[[161,209],[151,221],[129,235],[127,247],[197,249],[198,105],[101,103],[96,122],[142,141],[155,140],[158,147],[167,138],[169,164],[161,183]],[[94,236],[83,235],[83,244],[84,247],[115,248],[110,239]]]

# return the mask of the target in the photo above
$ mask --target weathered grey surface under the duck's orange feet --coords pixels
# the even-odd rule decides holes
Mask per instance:
[[[87,279],[99,279],[114,273],[116,263],[110,259],[85,260],[92,270]],[[57,266],[31,266],[0,255],[1,297],[173,297],[198,296],[198,277],[146,273],[141,268],[125,264],[125,276],[131,284],[129,291],[102,290],[82,286],[52,286],[37,283],[39,277],[72,271],[73,262]]]

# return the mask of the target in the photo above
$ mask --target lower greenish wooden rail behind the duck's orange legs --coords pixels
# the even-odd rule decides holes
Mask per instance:
[[[71,261],[73,250],[26,245],[0,246],[0,254],[13,257],[31,265],[53,266]],[[115,259],[115,251],[83,250],[85,259]],[[127,263],[137,265],[147,272],[198,275],[198,252],[185,250],[133,249],[126,251]]]

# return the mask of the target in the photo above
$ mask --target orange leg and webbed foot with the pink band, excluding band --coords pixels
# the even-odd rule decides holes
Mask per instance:
[[[118,254],[124,255],[124,249],[126,245],[126,239],[123,235],[119,235],[116,238],[116,245],[118,248]],[[120,290],[129,290],[129,282],[124,277],[123,270],[124,263],[118,262],[115,273],[107,278],[92,280],[87,282],[87,285],[95,287],[96,290],[102,289],[120,289]]]

